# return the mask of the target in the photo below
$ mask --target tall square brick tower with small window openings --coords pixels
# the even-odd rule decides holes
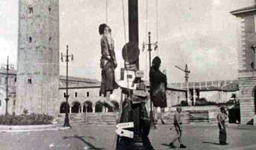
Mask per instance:
[[[17,115],[58,112],[58,9],[58,0],[19,0]]]

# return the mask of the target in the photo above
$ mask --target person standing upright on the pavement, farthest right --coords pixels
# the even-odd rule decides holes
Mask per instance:
[[[220,107],[220,112],[217,115],[218,126],[219,126],[219,142],[221,145],[227,145],[227,133],[225,128],[225,119],[227,118],[227,112],[225,111],[225,107]]]

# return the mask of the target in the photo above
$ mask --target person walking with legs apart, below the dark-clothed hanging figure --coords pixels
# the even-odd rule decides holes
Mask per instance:
[[[171,148],[176,148],[173,143],[178,139],[178,141],[180,143],[180,148],[186,148],[186,146],[184,146],[184,144],[181,141],[182,122],[181,122],[181,115],[180,115],[180,113],[181,113],[182,109],[181,109],[180,106],[178,106],[176,108],[176,110],[177,110],[177,112],[175,112],[175,114],[174,114],[174,128],[175,128],[175,130],[177,132],[177,136],[174,137],[173,141],[171,141],[170,147]]]

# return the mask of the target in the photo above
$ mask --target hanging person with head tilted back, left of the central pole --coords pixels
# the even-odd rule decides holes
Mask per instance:
[[[104,94],[104,103],[113,107],[110,95],[118,88],[115,81],[115,69],[117,67],[114,40],[111,37],[111,29],[107,24],[100,24],[99,33],[101,37],[101,86],[100,92]]]

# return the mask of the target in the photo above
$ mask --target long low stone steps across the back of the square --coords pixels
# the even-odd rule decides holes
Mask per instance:
[[[173,125],[175,112],[176,111],[169,111],[165,113],[164,122],[166,124]],[[216,112],[218,112],[218,110]],[[181,122],[183,122],[183,124],[215,124],[218,123],[216,120],[216,112],[215,110],[182,111]],[[116,125],[117,118],[119,117],[118,114],[117,112],[71,113],[69,114],[70,125]],[[157,115],[160,116],[160,114]],[[57,125],[63,125],[64,120],[65,113],[58,114]],[[158,121],[158,123],[161,124],[160,121]]]

